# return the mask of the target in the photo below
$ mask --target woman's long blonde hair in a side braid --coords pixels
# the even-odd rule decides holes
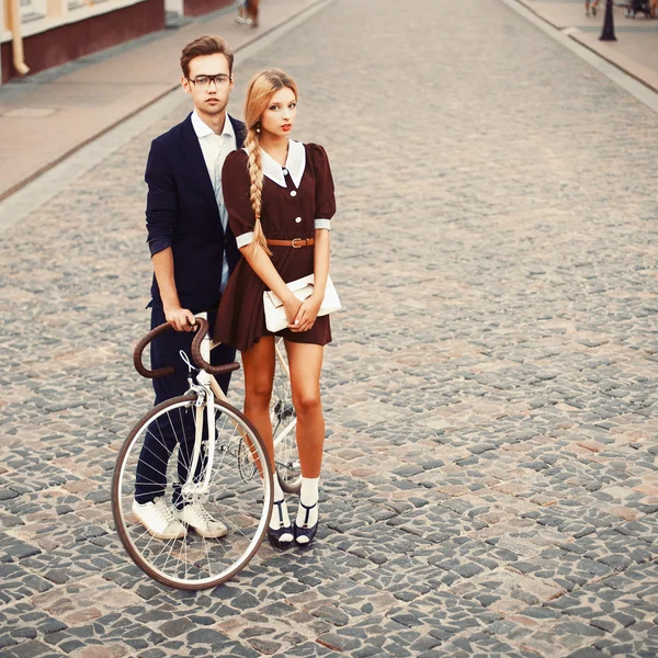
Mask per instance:
[[[280,89],[287,88],[297,99],[297,86],[295,81],[281,69],[265,69],[251,78],[247,90],[247,103],[245,105],[245,123],[247,124],[247,139],[245,146],[249,155],[249,178],[251,188],[249,196],[251,198],[251,207],[256,215],[256,224],[253,226],[253,245],[260,245],[265,253],[270,256],[272,252],[268,248],[263,228],[261,226],[261,206],[263,193],[263,166],[260,154],[260,139],[257,129],[260,129],[260,121],[263,112],[270,104],[272,94]]]

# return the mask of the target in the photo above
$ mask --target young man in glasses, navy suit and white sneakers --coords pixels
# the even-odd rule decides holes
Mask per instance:
[[[183,48],[181,84],[194,109],[152,141],[148,156],[146,226],[155,271],[151,328],[167,321],[174,329],[151,343],[151,367],[175,368],[173,375],[154,379],[156,405],[188,390],[188,366],[180,351],[192,362],[194,314],[207,311],[214,330],[222,293],[240,257],[222,192],[224,160],[242,147],[246,136],[245,124],[226,112],[234,89],[232,61],[232,53],[218,37],[202,36]],[[213,350],[214,365],[234,360],[235,350],[227,345]],[[217,379],[226,392],[230,374]],[[167,427],[157,433],[158,439],[149,432],[141,451],[134,514],[159,538],[182,537],[185,525],[204,537],[225,535],[226,527],[200,502],[184,504],[180,497],[188,474],[182,456],[191,454],[188,445],[179,446],[179,483],[173,484],[173,500],[166,500],[167,463],[177,438]],[[193,430],[190,436],[193,440]]]

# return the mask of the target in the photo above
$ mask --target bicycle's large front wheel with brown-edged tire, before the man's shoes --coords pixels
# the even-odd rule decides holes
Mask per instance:
[[[205,457],[197,469],[198,479],[202,479],[209,467],[208,490],[203,494],[203,500],[201,494],[194,494],[188,502],[196,500],[194,496],[197,496],[205,508],[209,508],[212,515],[228,527],[228,534],[217,540],[204,538],[188,527],[182,538],[158,540],[136,520],[132,504],[137,486],[137,464],[140,455],[146,454],[143,452],[145,442],[149,441],[151,449],[157,444],[159,450],[164,445],[162,429],[168,427],[167,423],[174,428],[175,444],[167,461],[161,461],[167,464],[163,495],[168,497],[175,489],[172,483],[177,479],[170,476],[170,472],[175,476],[181,460],[184,463],[183,453],[188,451],[181,446],[190,445],[181,438],[190,438],[191,417],[188,413],[193,412],[197,418],[196,400],[195,395],[171,398],[146,413],[122,445],[112,478],[112,513],[116,532],[128,556],[154,580],[184,590],[216,587],[239,574],[258,552],[272,513],[272,469],[260,435],[235,407],[215,400],[215,450],[212,463],[208,457],[211,444],[204,438]],[[202,418],[207,422],[205,401],[202,408]],[[177,427],[177,423],[180,424]],[[243,441],[252,443],[251,452],[256,455],[254,460],[262,460],[257,463],[264,465],[262,470],[265,477],[260,477],[260,469],[254,469],[257,477],[250,480],[245,478],[243,465],[238,463],[237,455]],[[152,450],[147,452],[152,453]],[[140,483],[143,486],[144,481],[149,487],[156,486],[154,480],[146,478]],[[166,501],[169,502],[168,498]]]

